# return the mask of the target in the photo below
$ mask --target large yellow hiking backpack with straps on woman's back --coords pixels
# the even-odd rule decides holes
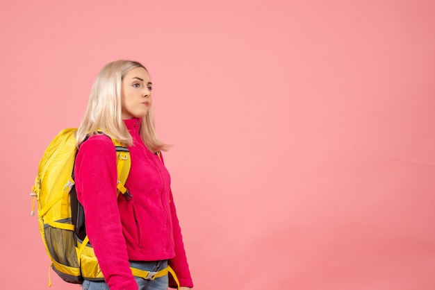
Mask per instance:
[[[40,160],[35,185],[32,187],[31,215],[35,214],[36,197],[40,234],[51,259],[50,268],[66,282],[81,284],[84,279],[104,280],[104,276],[85,234],[83,207],[77,201],[74,187],[76,130],[67,128],[60,131],[45,150]],[[118,194],[129,198],[129,191],[124,185],[130,172],[130,152],[115,139],[112,139],[112,142],[117,154]],[[159,153],[158,156],[160,157]],[[170,266],[158,272],[137,268],[131,268],[131,272],[147,280],[154,280],[170,273],[179,288],[177,275]]]

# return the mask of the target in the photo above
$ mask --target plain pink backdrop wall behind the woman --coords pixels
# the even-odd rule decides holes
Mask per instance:
[[[435,2],[1,1],[2,289],[97,72],[151,72],[196,289],[435,289]],[[51,273],[51,289],[79,289]]]

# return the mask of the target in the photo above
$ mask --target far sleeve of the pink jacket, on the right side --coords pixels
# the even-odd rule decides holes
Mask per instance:
[[[163,163],[163,155],[160,155]],[[172,190],[170,191],[170,209],[172,216],[172,231],[175,244],[175,257],[170,259],[168,264],[174,269],[175,274],[179,280],[180,286],[193,287],[192,277],[190,275],[189,264],[186,257],[186,250],[184,250],[183,236],[181,235],[181,227],[179,219],[177,217],[177,210],[175,209],[174,196],[172,196]],[[177,283],[169,275],[169,286],[171,288],[177,288]]]

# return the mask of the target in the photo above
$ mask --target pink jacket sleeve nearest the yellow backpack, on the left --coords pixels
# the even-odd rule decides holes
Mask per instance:
[[[84,142],[76,157],[77,197],[101,272],[110,290],[137,290],[117,207],[116,151],[105,135]]]

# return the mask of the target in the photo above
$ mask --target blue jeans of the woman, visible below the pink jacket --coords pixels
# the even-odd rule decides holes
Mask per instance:
[[[130,266],[149,272],[157,272],[167,267],[167,260],[155,262],[135,262],[131,261]],[[154,280],[145,280],[140,277],[135,277],[138,283],[139,290],[167,290],[168,278],[167,275],[156,278]],[[83,290],[109,290],[108,285],[104,281],[85,280],[81,285]]]

